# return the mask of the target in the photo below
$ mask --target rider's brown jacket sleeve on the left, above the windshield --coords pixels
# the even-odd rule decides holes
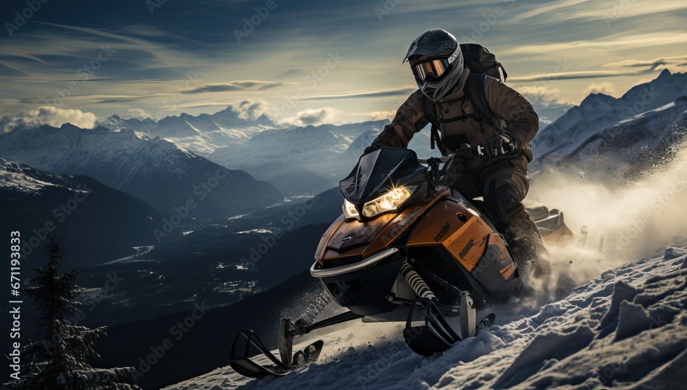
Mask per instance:
[[[422,92],[418,89],[396,111],[396,116],[387,124],[379,136],[372,141],[374,147],[407,148],[414,133],[422,130],[429,120],[425,118],[420,104]]]

